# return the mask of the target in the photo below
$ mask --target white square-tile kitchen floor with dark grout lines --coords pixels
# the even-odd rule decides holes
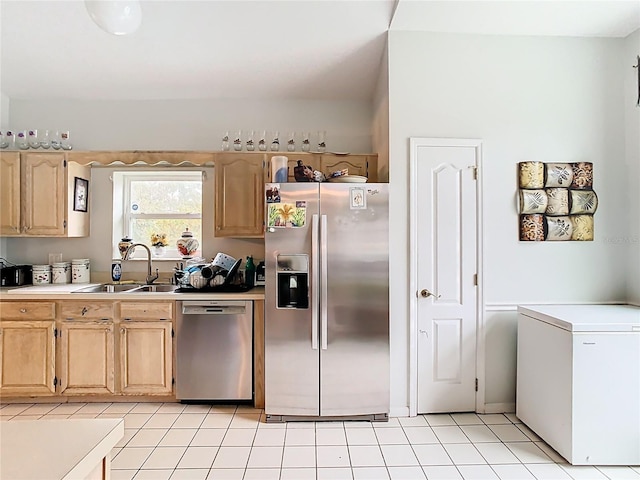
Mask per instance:
[[[125,420],[113,480],[640,480],[640,467],[569,465],[513,414],[267,424],[242,406],[0,405],[5,421],[95,417]]]

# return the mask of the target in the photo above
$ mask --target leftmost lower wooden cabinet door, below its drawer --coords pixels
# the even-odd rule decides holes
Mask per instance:
[[[0,394],[55,393],[55,322],[0,322]]]

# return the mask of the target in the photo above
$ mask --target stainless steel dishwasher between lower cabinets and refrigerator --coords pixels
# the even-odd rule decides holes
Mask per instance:
[[[178,302],[176,398],[253,399],[253,302]]]

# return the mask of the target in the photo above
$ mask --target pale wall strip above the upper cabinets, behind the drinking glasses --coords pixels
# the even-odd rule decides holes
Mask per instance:
[[[78,150],[220,150],[225,131],[251,129],[279,130],[283,148],[290,130],[314,143],[325,130],[328,151],[369,153],[371,115],[355,100],[11,100],[13,129],[69,130]]]

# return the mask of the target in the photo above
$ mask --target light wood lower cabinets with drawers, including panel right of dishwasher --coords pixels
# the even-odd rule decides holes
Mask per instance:
[[[170,396],[175,302],[0,302],[0,396]],[[264,406],[264,301],[254,301],[255,405]]]

